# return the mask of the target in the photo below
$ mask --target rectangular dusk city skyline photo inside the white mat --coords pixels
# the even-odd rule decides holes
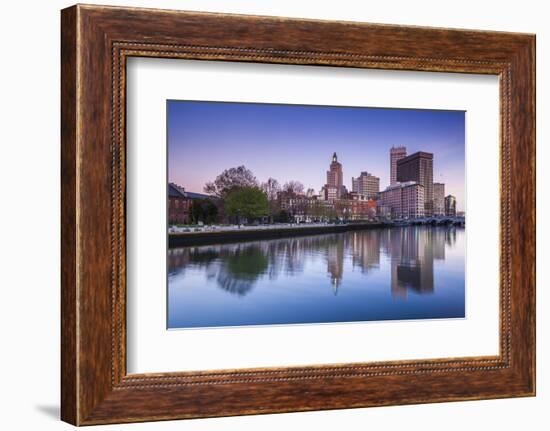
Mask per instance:
[[[166,109],[167,329],[466,317],[464,111]]]

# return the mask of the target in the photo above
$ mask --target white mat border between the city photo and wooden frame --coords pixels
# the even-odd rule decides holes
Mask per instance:
[[[150,58],[127,71],[128,373],[498,354],[498,77]],[[167,99],[466,111],[466,318],[168,331]]]

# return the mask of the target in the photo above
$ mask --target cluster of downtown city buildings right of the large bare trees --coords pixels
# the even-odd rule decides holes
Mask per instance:
[[[352,177],[352,191],[343,184],[343,168],[333,153],[327,183],[319,195],[279,193],[280,208],[295,222],[321,220],[410,219],[446,214],[445,184],[433,183],[433,154],[406,155],[405,147],[390,149],[394,184],[380,190],[380,178],[362,171]],[[456,207],[456,203],[455,203]],[[456,210],[455,210],[456,211]]]

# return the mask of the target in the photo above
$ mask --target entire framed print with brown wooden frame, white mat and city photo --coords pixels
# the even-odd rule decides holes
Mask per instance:
[[[63,420],[535,394],[533,35],[77,5],[61,43]]]

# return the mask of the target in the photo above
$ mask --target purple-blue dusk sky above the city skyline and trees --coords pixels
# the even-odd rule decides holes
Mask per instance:
[[[463,111],[380,109],[258,103],[167,102],[168,179],[203,192],[224,169],[245,165],[260,181],[297,180],[316,193],[332,153],[344,184],[362,171],[389,185],[389,150],[434,154],[434,182],[464,210]]]

